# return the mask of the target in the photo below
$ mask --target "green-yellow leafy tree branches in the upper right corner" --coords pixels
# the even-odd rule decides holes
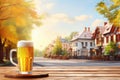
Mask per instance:
[[[101,15],[104,15],[110,23],[120,27],[120,0],[105,1],[99,2],[96,6],[96,10]]]

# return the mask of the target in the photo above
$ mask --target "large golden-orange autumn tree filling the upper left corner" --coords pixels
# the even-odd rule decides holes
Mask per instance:
[[[39,24],[32,0],[0,0],[0,62],[8,41],[29,39],[33,24]]]

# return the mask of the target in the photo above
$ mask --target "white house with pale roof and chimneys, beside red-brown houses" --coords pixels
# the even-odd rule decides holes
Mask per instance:
[[[78,58],[86,58],[88,57],[90,49],[94,48],[95,43],[92,38],[92,32],[90,28],[85,27],[84,31],[78,33],[71,40],[72,47],[72,56]]]

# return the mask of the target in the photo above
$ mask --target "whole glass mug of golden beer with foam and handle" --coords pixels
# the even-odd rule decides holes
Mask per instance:
[[[17,53],[17,61],[16,64],[13,61],[12,53]],[[20,74],[31,74],[32,73],[32,66],[33,66],[33,42],[21,40],[17,43],[17,50],[12,49],[10,50],[10,61],[13,65],[18,66]]]

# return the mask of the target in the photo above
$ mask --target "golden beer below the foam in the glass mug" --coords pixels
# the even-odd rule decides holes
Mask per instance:
[[[17,58],[20,73],[31,73],[33,65],[33,47],[18,47]]]

